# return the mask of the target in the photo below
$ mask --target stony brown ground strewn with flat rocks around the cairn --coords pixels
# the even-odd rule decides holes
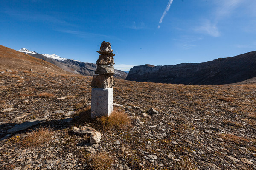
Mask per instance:
[[[96,129],[102,139],[90,144],[87,136],[72,130],[93,125],[76,119],[77,109],[90,104],[91,79],[1,72],[0,169],[83,170],[92,168],[92,156],[103,152],[113,158],[109,168],[116,170],[256,169],[256,84],[194,86],[116,79],[114,103],[139,121],[132,120],[124,130]],[[148,115],[149,108],[159,113]],[[29,129],[13,132],[33,121]],[[21,145],[26,132],[39,127],[52,130],[51,140],[37,147]]]

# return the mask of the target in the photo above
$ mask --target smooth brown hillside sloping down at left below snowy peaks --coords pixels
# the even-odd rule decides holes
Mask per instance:
[[[21,71],[48,72],[54,74],[70,74],[61,68],[46,62],[42,59],[15,51],[11,48],[0,45],[0,68],[1,71],[6,69]]]

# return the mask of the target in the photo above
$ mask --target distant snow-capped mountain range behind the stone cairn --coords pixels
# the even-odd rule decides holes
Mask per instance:
[[[87,62],[80,62],[73,59],[66,59],[62,58],[56,54],[39,54],[35,51],[29,51],[26,48],[21,48],[18,50],[19,52],[23,52],[25,54],[29,54],[30,56],[36,57],[38,59],[42,59],[44,61],[47,61],[49,63],[52,63],[54,65],[57,65],[58,67],[62,68],[65,71],[75,73],[75,74],[82,74],[85,76],[93,76],[95,74],[95,70],[97,68],[97,65],[94,63],[87,63]],[[127,73],[121,70],[115,69],[115,74],[113,75],[116,78],[119,79],[125,79],[127,76]]]

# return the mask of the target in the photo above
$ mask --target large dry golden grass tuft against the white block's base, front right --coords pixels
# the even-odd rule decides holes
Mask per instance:
[[[111,115],[96,118],[96,125],[102,130],[126,129],[131,125],[131,119],[124,111],[113,108]]]

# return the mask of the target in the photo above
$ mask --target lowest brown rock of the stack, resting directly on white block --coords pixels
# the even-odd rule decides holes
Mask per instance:
[[[91,82],[92,88],[113,88],[115,85],[115,79],[113,76],[108,75],[94,75]]]

